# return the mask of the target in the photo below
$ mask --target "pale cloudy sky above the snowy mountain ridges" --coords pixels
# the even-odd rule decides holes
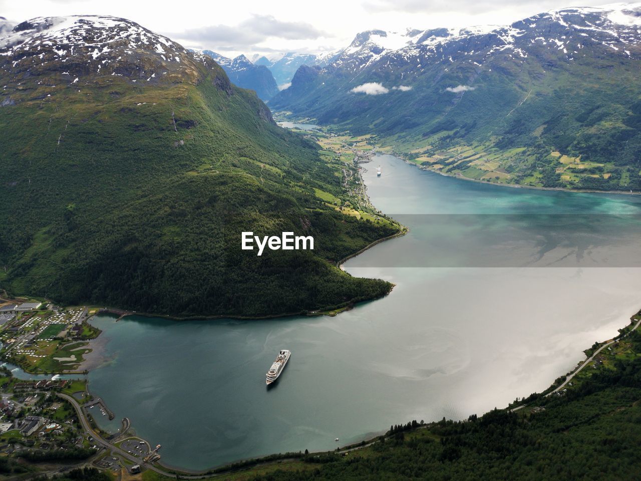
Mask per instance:
[[[138,22],[186,47],[222,55],[317,53],[344,47],[363,30],[508,24],[544,10],[603,0],[0,0],[0,16],[108,14]]]

